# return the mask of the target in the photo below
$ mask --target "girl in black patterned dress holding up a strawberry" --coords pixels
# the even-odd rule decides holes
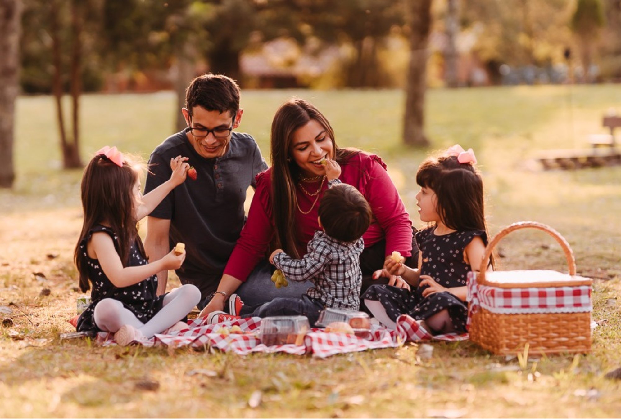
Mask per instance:
[[[90,306],[78,319],[79,332],[113,332],[119,345],[128,345],[183,328],[179,320],[196,306],[201,293],[186,284],[158,296],[156,273],[178,269],[186,253],[172,251],[149,263],[136,224],[184,182],[186,160],[171,159],[170,180],[145,196],[140,194],[137,168],[116,147],[98,151],[84,169],[84,223],[74,258],[80,288],[86,292],[93,284],[93,291]]]

